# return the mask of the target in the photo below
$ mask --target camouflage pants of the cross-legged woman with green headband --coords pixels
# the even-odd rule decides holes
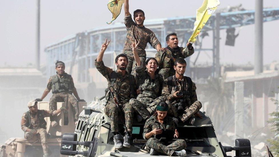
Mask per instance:
[[[174,151],[185,149],[186,146],[187,145],[185,140],[182,139],[178,139],[168,146],[164,145],[163,142],[160,142],[158,139],[153,137],[146,142],[146,149],[148,152],[150,152],[150,149],[153,148],[157,152],[167,154],[168,156],[172,156],[174,154]]]

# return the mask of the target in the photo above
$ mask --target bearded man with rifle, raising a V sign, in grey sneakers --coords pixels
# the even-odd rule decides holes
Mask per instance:
[[[113,140],[115,148],[122,148],[122,146],[130,147],[131,132],[133,129],[133,108],[129,104],[129,100],[135,97],[136,80],[133,75],[127,73],[125,70],[128,64],[128,58],[123,53],[115,58],[115,64],[117,65],[116,71],[113,71],[111,68],[104,65],[103,54],[109,42],[107,43],[106,39],[105,43],[102,44],[101,50],[95,60],[95,66],[97,70],[107,79],[108,88],[113,86],[118,97],[119,108],[121,108],[117,108],[113,98],[110,98],[104,110],[105,114],[110,118],[111,132],[114,134]],[[118,130],[118,117],[121,117],[119,114],[123,114],[122,112],[124,112],[125,126],[128,131],[125,133],[123,145],[121,142],[122,137]]]

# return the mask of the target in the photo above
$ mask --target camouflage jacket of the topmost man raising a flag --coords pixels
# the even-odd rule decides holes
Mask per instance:
[[[127,29],[127,37],[124,43],[123,51],[131,51],[131,54],[127,54],[128,56],[133,57],[131,44],[135,43],[135,40],[139,42],[139,45],[137,46],[139,57],[146,57],[145,48],[147,43],[150,43],[154,49],[156,49],[158,44],[161,44],[156,35],[150,29],[137,26],[132,19],[132,15],[124,17],[124,24]]]

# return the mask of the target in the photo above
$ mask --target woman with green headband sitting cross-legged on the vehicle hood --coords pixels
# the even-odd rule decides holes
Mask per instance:
[[[150,117],[145,125],[143,138],[148,139],[146,142],[146,149],[150,152],[150,155],[158,155],[157,153],[167,154],[168,156],[186,156],[186,142],[185,140],[178,139],[166,146],[168,141],[162,141],[157,139],[158,134],[162,134],[162,130],[175,129],[174,138],[179,138],[179,133],[176,130],[174,120],[171,117],[166,116],[168,111],[168,104],[160,102],[156,107],[154,116]]]

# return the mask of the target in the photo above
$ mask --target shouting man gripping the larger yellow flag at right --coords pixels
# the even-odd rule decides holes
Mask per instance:
[[[194,48],[189,42],[186,43],[186,48],[178,46],[176,33],[167,35],[166,42],[168,47],[164,48],[164,50],[158,51],[155,55],[155,58],[159,63],[159,73],[163,76],[164,80],[175,74],[173,67],[177,58],[186,58],[194,53]]]

